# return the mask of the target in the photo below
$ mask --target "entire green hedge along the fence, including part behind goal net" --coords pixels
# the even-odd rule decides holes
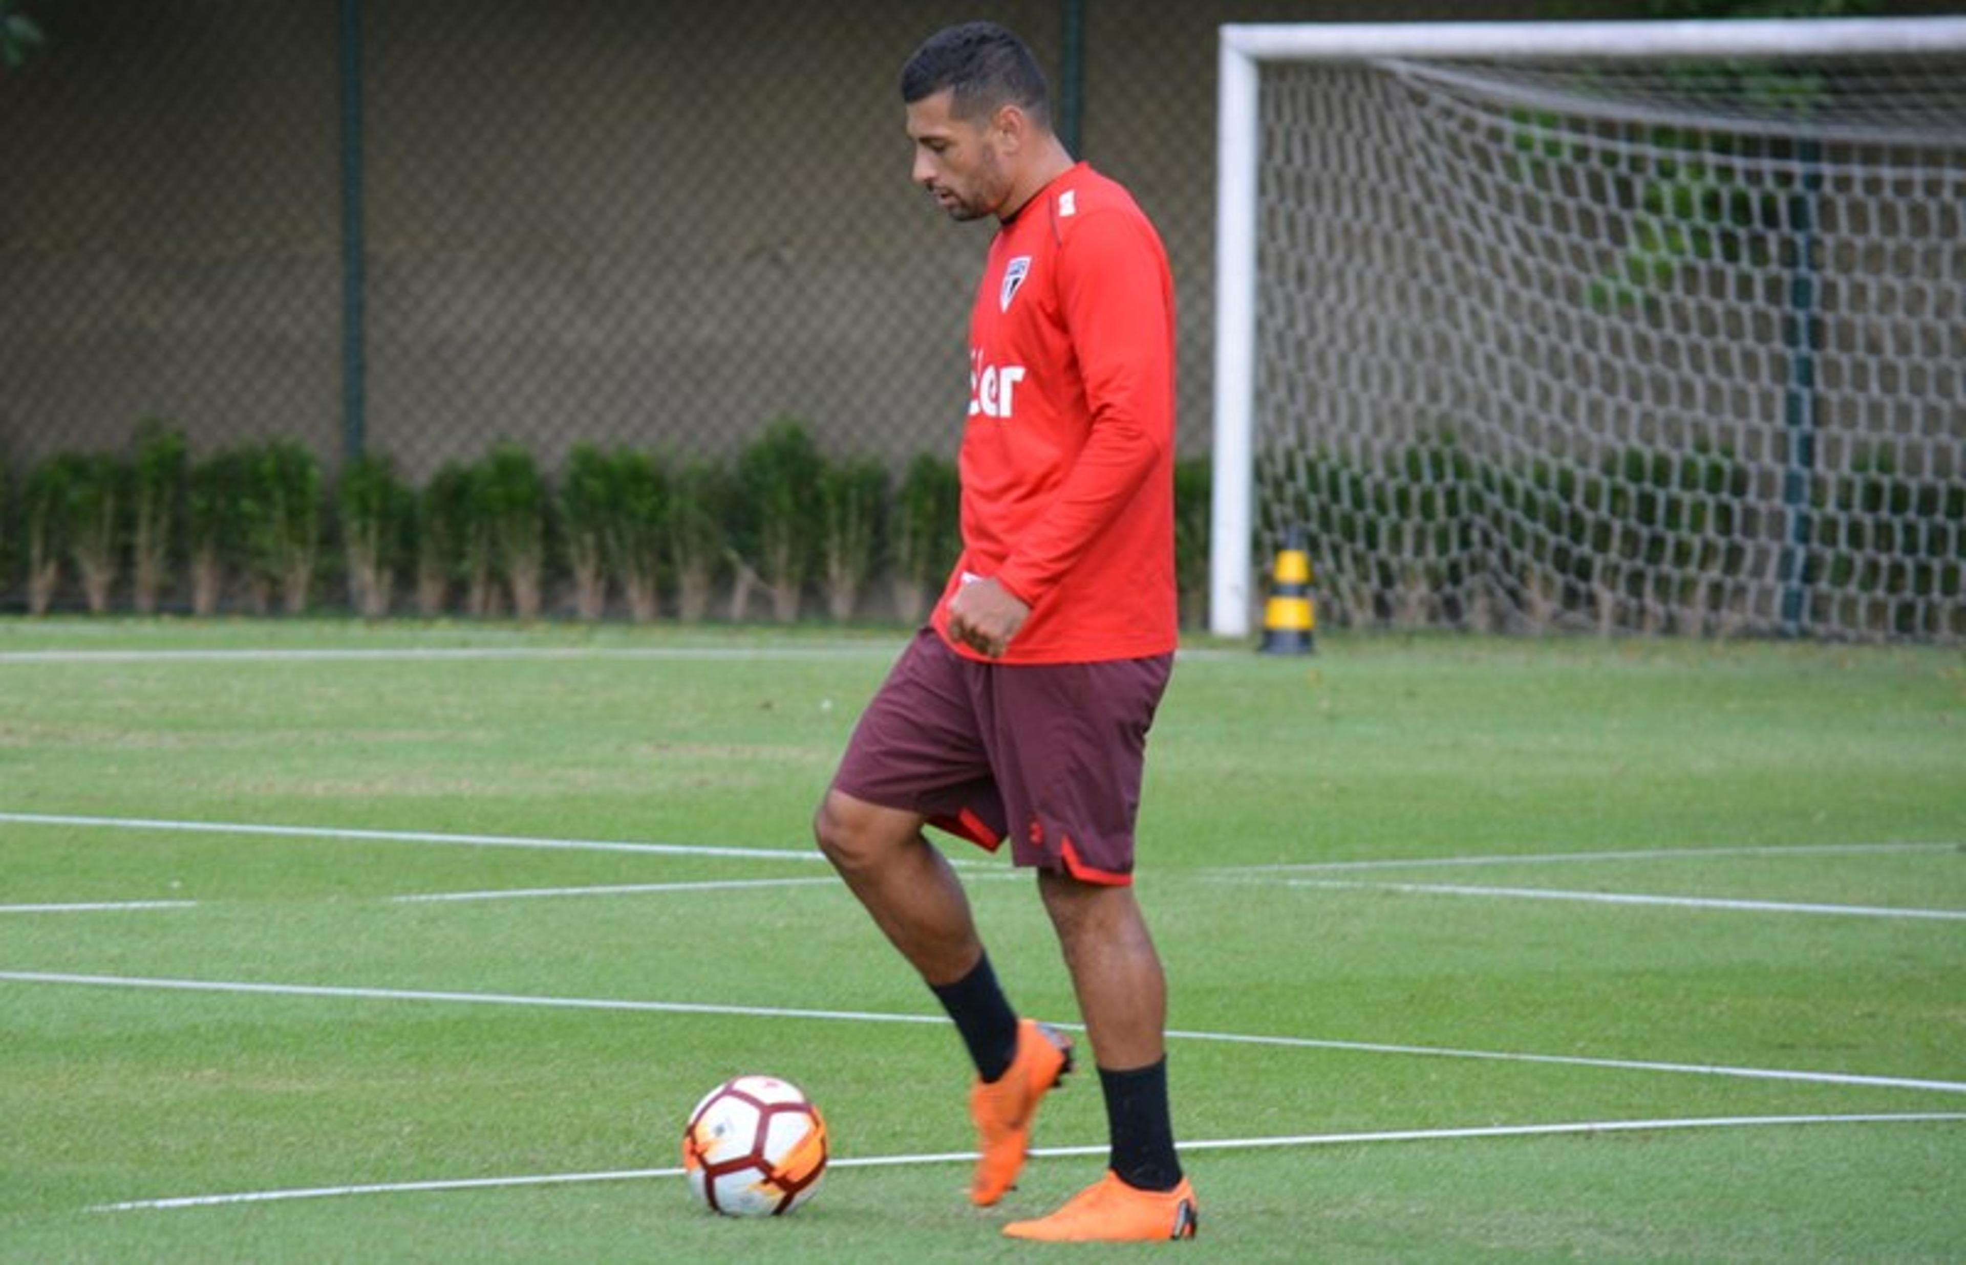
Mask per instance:
[[[1911,471],[1897,469],[1897,454],[1864,448],[1848,469],[1815,475],[1801,578],[1811,623],[1966,636],[1966,481],[1944,452]],[[490,615],[499,607],[493,585],[505,583],[511,609],[533,619],[549,579],[564,576],[582,619],[600,619],[615,593],[631,619],[657,619],[668,583],[686,623],[706,617],[720,583],[741,617],[747,585],[767,576],[733,540],[749,540],[749,556],[773,568],[759,542],[777,519],[808,522],[800,544],[818,570],[798,576],[822,581],[832,619],[861,609],[885,564],[896,615],[916,623],[959,554],[959,487],[948,460],[916,458],[891,495],[881,466],[830,464],[788,422],[747,448],[741,469],[582,446],[549,483],[527,452],[505,444],[413,491],[387,460],[358,460],[336,483],[350,605],[387,613],[397,576],[415,560],[425,615],[444,613],[460,585],[462,609]],[[1176,576],[1189,623],[1207,581],[1209,473],[1205,460],[1176,464]],[[1758,509],[1746,462],[1710,444],[1488,458],[1439,432],[1378,452],[1270,450],[1256,477],[1262,530],[1272,540],[1301,532],[1327,627],[1716,634],[1765,621],[1748,609],[1750,550],[1765,550],[1781,524]],[[792,495],[802,487],[810,491]],[[177,517],[167,509],[173,489]],[[317,583],[320,469],[297,444],[191,462],[179,434],[151,424],[134,462],[49,458],[28,471],[16,503],[33,613],[75,599],[65,593],[108,609],[130,554],[136,574],[149,576],[189,556],[199,615],[240,591],[248,609],[277,599],[299,611]],[[554,522],[564,532],[562,574],[549,570]],[[779,562],[769,581],[790,574]],[[228,589],[234,581],[242,589]],[[163,591],[161,579],[132,583],[136,609],[147,583]]]

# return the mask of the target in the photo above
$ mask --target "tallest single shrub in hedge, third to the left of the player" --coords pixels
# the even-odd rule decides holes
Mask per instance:
[[[820,538],[820,479],[826,458],[796,418],[781,418],[737,454],[737,489],[749,513],[737,550],[771,589],[779,623],[798,619]]]

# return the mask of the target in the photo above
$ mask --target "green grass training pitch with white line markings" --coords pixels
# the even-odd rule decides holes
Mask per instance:
[[[898,644],[0,623],[0,1257],[1022,1255],[1095,1082],[967,1208],[959,1043],[808,843]],[[1966,1257],[1956,650],[1199,646],[1140,851],[1185,1257]],[[792,1218],[674,1175],[739,1071],[832,1124]]]

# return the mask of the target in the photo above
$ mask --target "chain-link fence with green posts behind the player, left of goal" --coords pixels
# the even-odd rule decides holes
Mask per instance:
[[[523,450],[552,485],[582,448],[727,462],[784,420],[826,460],[879,464],[896,485],[916,458],[950,458],[989,226],[952,226],[910,189],[896,77],[926,33],[975,16],[1032,43],[1081,155],[1162,228],[1180,444],[1201,458],[1217,26],[1522,20],[1551,6],[16,8],[47,41],[0,71],[0,609],[96,605],[85,568],[33,599],[29,475],[61,454],[130,460],[145,422],[183,436],[193,464],[267,444],[311,454],[322,497],[358,456],[387,458],[417,491]],[[332,517],[330,578],[303,607],[346,601]],[[240,597],[252,585],[195,601],[193,548],[181,530],[151,601],[265,603]],[[568,542],[552,556],[566,572]],[[134,570],[104,587],[108,605]],[[741,585],[743,568],[722,581]],[[572,587],[549,583],[547,607],[572,609]],[[906,615],[908,601],[859,609]]]

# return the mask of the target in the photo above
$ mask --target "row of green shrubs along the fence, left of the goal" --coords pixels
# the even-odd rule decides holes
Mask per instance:
[[[0,603],[110,611],[572,615],[694,623],[824,609],[918,621],[959,552],[955,466],[832,460],[792,418],[731,460],[497,444],[411,485],[285,440],[195,458],[145,422],[124,454],[0,469]],[[1207,568],[1207,469],[1180,469],[1182,574]],[[885,601],[883,601],[885,597]]]

